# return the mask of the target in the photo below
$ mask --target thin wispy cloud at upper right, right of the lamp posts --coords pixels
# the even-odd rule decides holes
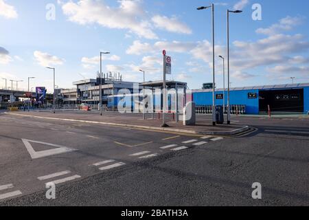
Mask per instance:
[[[304,18],[301,17],[285,17],[280,19],[279,23],[271,25],[269,28],[259,28],[256,30],[258,34],[274,35],[282,31],[292,30],[295,26],[300,25]]]

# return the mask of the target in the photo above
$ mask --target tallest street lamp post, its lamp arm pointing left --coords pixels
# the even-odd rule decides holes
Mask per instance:
[[[212,125],[216,126],[216,111],[215,111],[215,85],[216,85],[216,78],[215,78],[215,50],[214,50],[214,3],[207,7],[199,7],[197,10],[205,10],[207,8],[211,8],[212,14],[212,81],[213,81],[213,92],[212,92]]]

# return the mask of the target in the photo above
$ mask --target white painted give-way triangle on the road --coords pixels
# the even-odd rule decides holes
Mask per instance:
[[[60,153],[68,153],[71,151],[77,151],[74,148],[69,148],[67,146],[61,146],[58,144],[49,144],[46,142],[37,142],[35,140],[27,140],[27,139],[22,139],[23,144],[25,144],[25,147],[27,148],[27,151],[30,153],[30,156],[32,159],[38,159],[41,157],[48,157],[48,156],[52,156],[52,155],[57,155]],[[56,147],[55,149],[51,149],[51,150],[46,150],[46,151],[34,151],[34,148],[31,146],[30,142],[36,143],[36,144],[44,144],[47,146],[54,146]]]

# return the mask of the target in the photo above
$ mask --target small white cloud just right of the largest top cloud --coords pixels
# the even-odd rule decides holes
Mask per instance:
[[[168,30],[169,32],[192,34],[192,30],[184,23],[178,21],[175,17],[168,18],[156,15],[155,17],[152,17],[152,22],[155,23],[156,28]]]

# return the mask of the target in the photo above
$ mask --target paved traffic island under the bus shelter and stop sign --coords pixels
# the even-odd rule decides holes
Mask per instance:
[[[12,115],[26,115],[34,118],[44,118],[49,120],[68,120],[76,122],[88,122],[95,124],[104,124],[111,126],[126,126],[130,128],[139,129],[151,129],[157,131],[174,131],[178,133],[192,133],[200,135],[236,135],[249,130],[249,126],[244,124],[233,123],[232,125],[218,124],[212,126],[211,118],[203,118],[197,120],[194,126],[184,126],[182,120],[175,122],[172,114],[167,114],[166,122],[168,128],[162,128],[162,114],[152,115],[146,114],[146,120],[143,119],[143,115],[140,113],[118,113],[106,111],[103,115],[100,115],[98,111],[19,111],[18,113],[9,113]]]

